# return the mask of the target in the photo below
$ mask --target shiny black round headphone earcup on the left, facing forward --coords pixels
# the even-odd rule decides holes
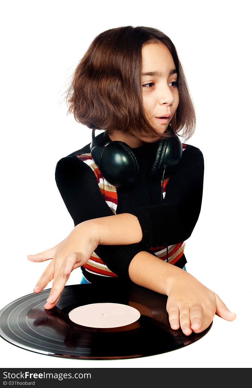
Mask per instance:
[[[93,147],[91,155],[109,184],[120,187],[137,183],[140,175],[139,165],[126,143],[114,140],[102,147]]]

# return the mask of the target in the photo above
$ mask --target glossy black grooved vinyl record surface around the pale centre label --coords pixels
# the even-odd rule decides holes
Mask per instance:
[[[13,345],[45,355],[71,359],[130,359],[170,352],[202,338],[173,330],[166,311],[167,296],[141,286],[65,286],[57,305],[44,308],[50,289],[22,296],[0,311],[0,336]],[[120,303],[140,313],[135,322],[120,327],[86,327],[69,313],[92,303]]]

